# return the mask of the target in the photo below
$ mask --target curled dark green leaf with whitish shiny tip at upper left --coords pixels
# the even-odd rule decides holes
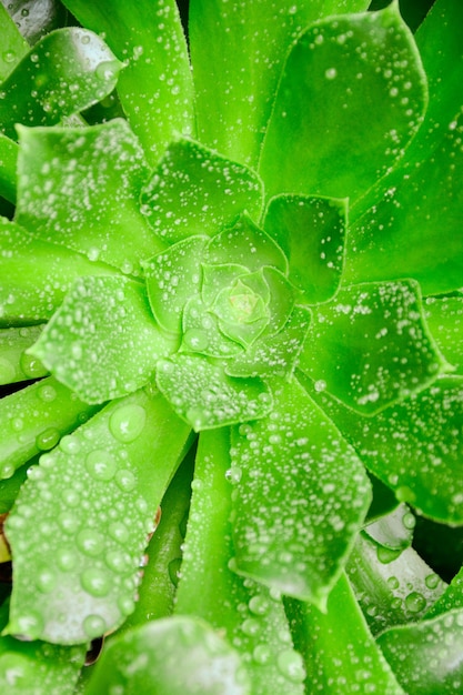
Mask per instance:
[[[122,63],[93,32],[59,29],[37,43],[1,84],[0,129],[52,125],[107,97]]]

